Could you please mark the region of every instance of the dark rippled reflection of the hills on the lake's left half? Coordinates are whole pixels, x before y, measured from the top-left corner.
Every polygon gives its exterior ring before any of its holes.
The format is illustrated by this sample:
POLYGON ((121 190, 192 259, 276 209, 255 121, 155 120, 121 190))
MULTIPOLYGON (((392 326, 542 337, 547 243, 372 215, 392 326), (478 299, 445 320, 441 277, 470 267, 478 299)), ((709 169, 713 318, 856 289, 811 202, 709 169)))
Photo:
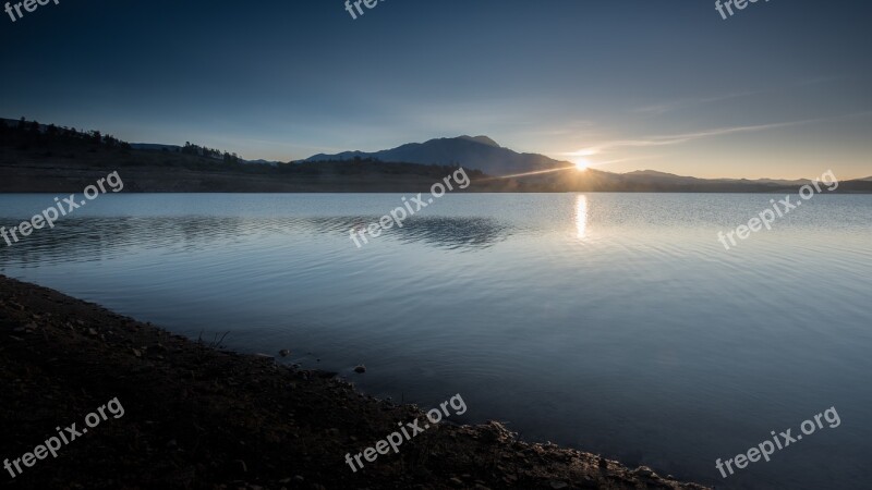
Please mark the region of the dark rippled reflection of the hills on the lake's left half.
MULTIPOLYGON (((0 221, 9 221, 1 219, 0 221)), ((11 247, 0 241, 0 267, 63 262, 70 256, 80 260, 101 260, 141 249, 203 250, 265 236, 330 234, 349 238, 352 228, 377 222, 378 217, 117 217, 82 218, 59 222, 49 233, 33 233, 11 247)), ((489 218, 412 218, 402 228, 392 228, 375 238, 421 243, 448 249, 485 248, 510 235, 509 226, 489 218)))

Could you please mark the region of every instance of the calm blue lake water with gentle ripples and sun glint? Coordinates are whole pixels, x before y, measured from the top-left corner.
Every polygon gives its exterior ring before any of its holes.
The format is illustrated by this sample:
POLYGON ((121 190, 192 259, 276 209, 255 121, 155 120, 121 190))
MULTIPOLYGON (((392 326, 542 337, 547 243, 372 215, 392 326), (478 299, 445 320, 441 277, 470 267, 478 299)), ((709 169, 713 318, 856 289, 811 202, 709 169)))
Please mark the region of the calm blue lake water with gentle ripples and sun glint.
MULTIPOLYGON (((0 196, 0 224, 53 197, 0 196)), ((773 197, 449 195, 358 249, 400 195, 109 195, 0 242, 0 271, 718 488, 869 488, 872 196, 725 250, 773 197), (838 428, 715 469, 831 406, 838 428)))

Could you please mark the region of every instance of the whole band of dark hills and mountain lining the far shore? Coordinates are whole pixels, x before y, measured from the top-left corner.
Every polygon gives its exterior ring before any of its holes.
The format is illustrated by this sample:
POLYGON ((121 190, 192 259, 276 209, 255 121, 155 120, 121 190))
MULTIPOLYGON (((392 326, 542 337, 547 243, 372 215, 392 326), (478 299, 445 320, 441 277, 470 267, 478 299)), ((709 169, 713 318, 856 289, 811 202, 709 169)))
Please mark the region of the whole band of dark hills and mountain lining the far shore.
MULTIPOLYGON (((124 180, 124 192, 416 193, 427 192, 434 182, 455 172, 457 163, 462 161, 468 161, 463 167, 472 181, 464 192, 788 194, 809 182, 708 180, 654 170, 623 174, 594 169, 580 172, 569 162, 518 154, 486 136, 432 139, 377 154, 384 158, 346 152, 342 154, 344 158, 322 156, 328 160, 294 163, 246 161, 234 154, 190 143, 183 147, 131 145, 97 131, 0 120, 0 192, 81 192, 96 179, 118 171, 124 180), (385 161, 403 156, 416 160, 385 161), (449 163, 433 163, 439 160, 449 163), (484 173, 474 164, 493 170, 484 173), (554 171, 513 175, 535 170, 554 171)), ((872 193, 872 177, 843 181, 835 192, 872 193)))

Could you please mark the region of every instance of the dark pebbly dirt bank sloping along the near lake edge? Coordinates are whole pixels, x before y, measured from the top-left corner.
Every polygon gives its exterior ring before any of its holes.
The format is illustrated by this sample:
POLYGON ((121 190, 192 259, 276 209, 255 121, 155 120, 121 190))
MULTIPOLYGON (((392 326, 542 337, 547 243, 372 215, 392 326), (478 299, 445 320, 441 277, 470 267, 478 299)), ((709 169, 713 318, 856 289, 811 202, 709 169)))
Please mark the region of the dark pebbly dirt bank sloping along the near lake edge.
POLYGON ((352 471, 346 454, 426 411, 2 274, 0 372, 0 460, 34 451, 55 427, 81 427, 109 400, 125 411, 14 479, 2 470, 11 488, 706 488, 519 441, 496 421, 434 425, 352 471))

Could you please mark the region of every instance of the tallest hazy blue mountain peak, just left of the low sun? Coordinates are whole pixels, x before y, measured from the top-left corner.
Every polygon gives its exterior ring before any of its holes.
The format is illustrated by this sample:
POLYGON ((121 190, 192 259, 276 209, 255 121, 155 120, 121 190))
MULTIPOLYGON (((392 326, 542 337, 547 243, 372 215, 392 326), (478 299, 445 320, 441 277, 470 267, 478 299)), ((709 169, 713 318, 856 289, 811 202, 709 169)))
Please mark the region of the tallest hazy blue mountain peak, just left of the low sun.
POLYGON ((537 154, 519 154, 499 146, 487 136, 458 136, 455 138, 431 139, 425 143, 410 143, 396 148, 364 152, 343 151, 336 155, 315 155, 303 161, 329 161, 375 159, 390 162, 420 164, 460 164, 468 169, 481 170, 489 175, 509 175, 565 167, 574 167, 568 161, 559 161, 537 154))

